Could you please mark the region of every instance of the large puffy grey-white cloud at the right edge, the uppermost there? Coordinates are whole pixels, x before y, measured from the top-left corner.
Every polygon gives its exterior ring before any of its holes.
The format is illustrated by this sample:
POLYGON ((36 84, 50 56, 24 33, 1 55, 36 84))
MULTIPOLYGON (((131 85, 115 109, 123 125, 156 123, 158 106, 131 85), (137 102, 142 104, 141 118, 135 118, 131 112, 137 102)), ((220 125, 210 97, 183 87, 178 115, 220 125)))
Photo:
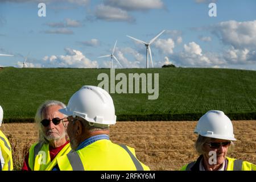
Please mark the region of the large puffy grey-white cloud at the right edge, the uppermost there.
POLYGON ((213 28, 213 33, 224 44, 231 45, 234 48, 256 48, 256 20, 248 22, 229 20, 218 23, 213 28))

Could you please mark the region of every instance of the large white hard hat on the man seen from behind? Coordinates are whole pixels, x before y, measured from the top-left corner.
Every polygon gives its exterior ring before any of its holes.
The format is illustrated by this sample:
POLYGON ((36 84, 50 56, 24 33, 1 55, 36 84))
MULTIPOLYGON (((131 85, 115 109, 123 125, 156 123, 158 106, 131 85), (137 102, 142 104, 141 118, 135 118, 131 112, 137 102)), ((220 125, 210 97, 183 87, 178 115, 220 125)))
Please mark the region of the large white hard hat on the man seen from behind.
POLYGON ((106 90, 84 85, 68 101, 68 106, 59 110, 65 115, 79 116, 88 122, 114 125, 117 117, 113 100, 106 90))

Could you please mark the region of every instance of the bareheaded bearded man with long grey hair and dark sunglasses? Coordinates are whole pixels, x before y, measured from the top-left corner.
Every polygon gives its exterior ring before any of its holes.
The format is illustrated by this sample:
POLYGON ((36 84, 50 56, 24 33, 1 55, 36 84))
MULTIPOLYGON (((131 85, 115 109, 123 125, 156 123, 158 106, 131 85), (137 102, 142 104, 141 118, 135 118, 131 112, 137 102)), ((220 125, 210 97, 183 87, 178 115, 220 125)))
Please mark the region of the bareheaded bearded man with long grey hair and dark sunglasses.
POLYGON ((59 101, 46 101, 38 109, 35 122, 39 127, 39 141, 32 144, 23 163, 23 171, 44 171, 56 165, 56 158, 68 154, 71 147, 59 112, 65 105, 59 101))

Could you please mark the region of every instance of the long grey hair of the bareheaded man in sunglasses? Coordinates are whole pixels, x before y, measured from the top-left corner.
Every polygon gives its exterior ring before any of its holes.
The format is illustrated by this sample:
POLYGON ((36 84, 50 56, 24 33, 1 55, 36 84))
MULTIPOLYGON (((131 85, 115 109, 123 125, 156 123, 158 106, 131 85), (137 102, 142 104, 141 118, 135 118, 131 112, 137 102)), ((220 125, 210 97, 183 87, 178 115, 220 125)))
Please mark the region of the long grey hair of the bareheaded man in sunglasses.
MULTIPOLYGON (((55 106, 55 105, 61 106, 61 108, 66 107, 66 105, 63 104, 63 102, 55 101, 55 100, 48 100, 48 101, 45 101, 42 105, 40 105, 38 107, 38 110, 36 111, 35 123, 39 128, 39 142, 49 143, 49 141, 44 137, 43 126, 40 122, 43 119, 44 110, 47 109, 49 106, 55 106)), ((64 115, 64 116, 67 117, 67 115, 64 115)), ((67 133, 65 135, 67 135, 67 133)))

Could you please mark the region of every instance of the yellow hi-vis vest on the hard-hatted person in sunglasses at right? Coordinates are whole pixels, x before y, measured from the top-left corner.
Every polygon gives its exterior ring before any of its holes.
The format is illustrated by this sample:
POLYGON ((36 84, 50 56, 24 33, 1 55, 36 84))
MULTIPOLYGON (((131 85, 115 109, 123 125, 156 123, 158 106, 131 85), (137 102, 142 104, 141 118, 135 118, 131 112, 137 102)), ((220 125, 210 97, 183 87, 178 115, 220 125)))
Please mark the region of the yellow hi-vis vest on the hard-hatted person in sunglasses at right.
MULTIPOLYGON (((240 159, 228 158, 228 167, 226 171, 256 171, 256 166, 247 161, 243 161, 240 159)), ((195 162, 189 163, 183 166, 180 171, 191 171, 191 167, 195 164, 195 162)))

